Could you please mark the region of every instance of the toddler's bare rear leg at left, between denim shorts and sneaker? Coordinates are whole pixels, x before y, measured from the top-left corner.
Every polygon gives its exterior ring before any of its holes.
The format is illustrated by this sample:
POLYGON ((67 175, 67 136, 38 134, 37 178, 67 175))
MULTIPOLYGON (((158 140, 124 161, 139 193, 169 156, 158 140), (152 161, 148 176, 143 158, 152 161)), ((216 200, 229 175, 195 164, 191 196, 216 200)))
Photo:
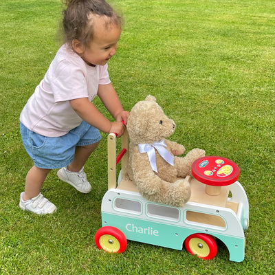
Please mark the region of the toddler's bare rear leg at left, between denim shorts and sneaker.
POLYGON ((36 166, 30 168, 25 181, 25 192, 23 195, 25 201, 39 195, 49 172, 50 169, 38 168, 36 166))

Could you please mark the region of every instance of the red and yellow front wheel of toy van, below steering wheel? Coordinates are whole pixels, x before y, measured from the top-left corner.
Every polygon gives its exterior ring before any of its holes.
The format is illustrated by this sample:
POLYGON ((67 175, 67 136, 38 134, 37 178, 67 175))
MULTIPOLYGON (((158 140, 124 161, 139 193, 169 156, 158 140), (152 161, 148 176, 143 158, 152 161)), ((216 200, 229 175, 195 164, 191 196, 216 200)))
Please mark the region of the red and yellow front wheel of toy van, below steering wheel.
POLYGON ((217 255, 218 248, 214 238, 208 234, 192 234, 184 241, 186 250, 201 259, 210 260, 217 255))

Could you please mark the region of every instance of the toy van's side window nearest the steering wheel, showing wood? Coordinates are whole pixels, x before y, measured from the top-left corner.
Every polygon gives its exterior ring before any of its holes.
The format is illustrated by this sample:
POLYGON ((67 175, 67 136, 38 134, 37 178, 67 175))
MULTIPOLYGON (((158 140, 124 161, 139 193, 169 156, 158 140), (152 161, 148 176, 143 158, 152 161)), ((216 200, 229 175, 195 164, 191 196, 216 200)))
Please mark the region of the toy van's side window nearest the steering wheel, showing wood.
POLYGON ((196 223, 196 225, 203 226, 203 224, 219 226, 222 229, 226 228, 226 223, 221 216, 215 214, 207 214, 196 211, 186 211, 186 220, 196 223))

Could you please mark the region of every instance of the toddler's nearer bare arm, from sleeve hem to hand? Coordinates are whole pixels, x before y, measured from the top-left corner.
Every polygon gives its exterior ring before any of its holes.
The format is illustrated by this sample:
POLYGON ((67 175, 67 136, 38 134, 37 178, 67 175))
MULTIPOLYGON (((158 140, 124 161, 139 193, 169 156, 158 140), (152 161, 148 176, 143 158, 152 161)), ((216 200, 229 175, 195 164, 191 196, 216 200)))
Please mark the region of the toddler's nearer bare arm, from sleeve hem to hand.
POLYGON ((123 135, 124 125, 121 122, 110 122, 96 109, 88 98, 70 100, 70 104, 80 118, 100 131, 104 133, 117 133, 119 137, 123 135))

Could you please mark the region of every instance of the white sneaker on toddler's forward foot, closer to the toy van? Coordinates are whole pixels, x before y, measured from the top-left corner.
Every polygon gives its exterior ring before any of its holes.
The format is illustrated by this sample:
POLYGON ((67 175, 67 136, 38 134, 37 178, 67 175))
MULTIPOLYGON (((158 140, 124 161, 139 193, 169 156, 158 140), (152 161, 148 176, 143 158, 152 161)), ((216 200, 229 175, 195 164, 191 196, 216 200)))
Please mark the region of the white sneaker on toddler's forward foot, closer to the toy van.
POLYGON ((59 179, 71 184, 79 192, 89 193, 91 191, 91 184, 87 181, 87 176, 83 169, 84 167, 79 172, 70 172, 67 168, 63 167, 58 170, 57 175, 59 179))

